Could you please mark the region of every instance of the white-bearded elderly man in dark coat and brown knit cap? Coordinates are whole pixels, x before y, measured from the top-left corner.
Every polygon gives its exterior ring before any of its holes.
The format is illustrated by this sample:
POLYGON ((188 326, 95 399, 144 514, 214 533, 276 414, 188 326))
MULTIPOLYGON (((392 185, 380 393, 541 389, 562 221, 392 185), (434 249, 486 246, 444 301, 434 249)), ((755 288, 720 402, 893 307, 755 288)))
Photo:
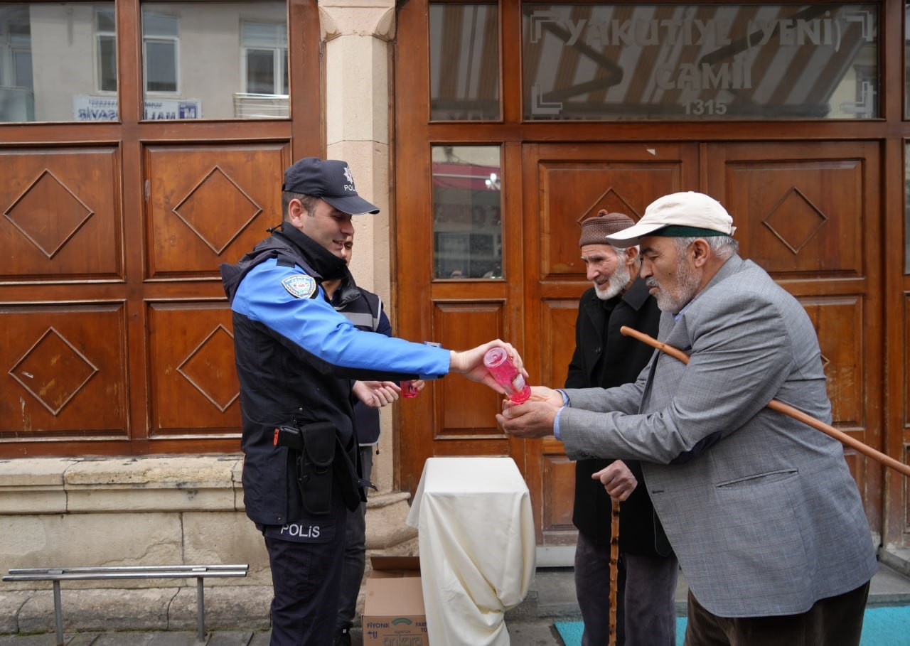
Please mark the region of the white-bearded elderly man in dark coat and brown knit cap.
MULTIPOLYGON (((582 296, 575 323, 575 352, 566 388, 612 388, 634 381, 652 349, 620 334, 622 326, 656 335, 661 310, 638 278, 638 247, 613 247, 606 237, 632 227, 631 217, 601 211, 581 223, 581 260, 593 283, 582 296)), ((584 620, 582 644, 609 641, 611 500, 591 475, 610 469, 620 511, 617 643, 676 643, 674 593, 679 566, 654 516, 637 460, 581 459, 575 464, 578 528, 575 590, 584 620)))

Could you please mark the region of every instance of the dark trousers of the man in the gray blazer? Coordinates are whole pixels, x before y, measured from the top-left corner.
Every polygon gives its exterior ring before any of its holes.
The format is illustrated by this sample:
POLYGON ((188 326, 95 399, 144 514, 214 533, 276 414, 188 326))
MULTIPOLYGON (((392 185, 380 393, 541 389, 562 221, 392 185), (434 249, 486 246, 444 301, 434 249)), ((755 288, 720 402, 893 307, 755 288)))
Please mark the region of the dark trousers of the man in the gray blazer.
POLYGON ((718 617, 689 591, 685 646, 857 646, 863 633, 869 583, 815 601, 800 614, 718 617))

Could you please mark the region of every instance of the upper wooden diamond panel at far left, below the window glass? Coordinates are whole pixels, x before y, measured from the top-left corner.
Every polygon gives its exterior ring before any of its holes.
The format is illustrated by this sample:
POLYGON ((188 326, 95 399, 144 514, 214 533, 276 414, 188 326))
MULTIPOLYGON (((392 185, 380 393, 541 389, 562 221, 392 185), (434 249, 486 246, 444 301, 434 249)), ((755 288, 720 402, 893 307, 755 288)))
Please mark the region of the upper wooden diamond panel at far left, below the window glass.
POLYGON ((116 147, 0 150, 0 282, 123 278, 116 147))

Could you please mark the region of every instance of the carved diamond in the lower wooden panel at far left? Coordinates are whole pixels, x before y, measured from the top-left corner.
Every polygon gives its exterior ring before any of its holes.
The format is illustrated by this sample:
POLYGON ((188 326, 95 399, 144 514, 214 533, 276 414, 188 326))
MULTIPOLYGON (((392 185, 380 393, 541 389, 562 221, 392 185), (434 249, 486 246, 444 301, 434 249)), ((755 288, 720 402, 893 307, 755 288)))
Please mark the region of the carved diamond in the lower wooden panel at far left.
POLYGON ((97 371, 72 343, 48 328, 9 374, 56 417, 97 371))

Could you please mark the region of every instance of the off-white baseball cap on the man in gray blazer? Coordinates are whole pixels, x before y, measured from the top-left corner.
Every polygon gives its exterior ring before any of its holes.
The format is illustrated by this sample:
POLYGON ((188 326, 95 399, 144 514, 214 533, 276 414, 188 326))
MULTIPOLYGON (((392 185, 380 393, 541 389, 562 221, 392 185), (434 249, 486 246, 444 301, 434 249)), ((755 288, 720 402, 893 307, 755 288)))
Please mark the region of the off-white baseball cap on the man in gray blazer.
POLYGON ((655 199, 634 226, 606 237, 616 247, 637 245, 642 236, 733 236, 733 217, 720 202, 703 193, 684 191, 655 199))

